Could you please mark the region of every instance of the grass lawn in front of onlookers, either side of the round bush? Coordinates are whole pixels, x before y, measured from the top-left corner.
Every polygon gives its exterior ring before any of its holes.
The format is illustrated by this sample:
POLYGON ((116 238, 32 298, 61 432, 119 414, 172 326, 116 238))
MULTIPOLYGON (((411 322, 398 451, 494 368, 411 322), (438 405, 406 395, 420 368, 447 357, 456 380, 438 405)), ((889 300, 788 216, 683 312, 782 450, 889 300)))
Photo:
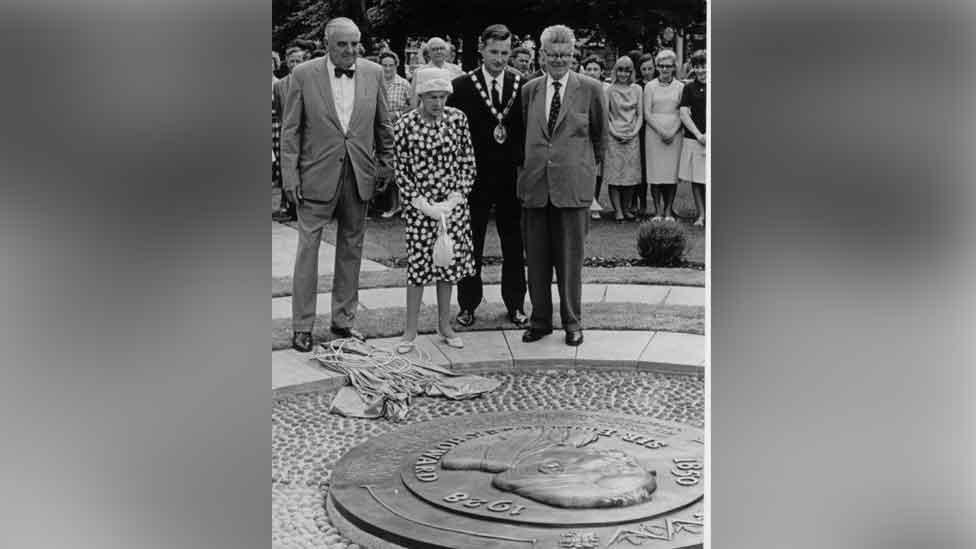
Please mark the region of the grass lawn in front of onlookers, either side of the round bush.
MULTIPOLYGON (((605 208, 604 219, 590 222, 590 231, 586 237, 585 257, 601 257, 610 259, 635 259, 637 253, 638 223, 629 222, 618 225, 612 219, 609 203, 606 202, 606 190, 602 191, 601 205, 605 208)), ((278 191, 272 191, 272 209, 278 205, 278 191)), ((675 211, 679 216, 691 219, 679 219, 679 223, 686 229, 688 246, 685 249, 685 261, 691 265, 703 266, 705 263, 705 231, 701 227, 693 227, 695 206, 691 198, 688 185, 678 186, 678 196, 675 199, 675 211)), ((289 223, 294 226, 294 222, 289 223)), ((323 232, 322 239, 335 244, 335 224, 330 224, 323 232)), ((406 256, 406 243, 403 238, 403 222, 400 218, 392 219, 370 218, 366 224, 366 239, 363 243, 363 257, 388 263, 393 259, 406 256)), ((498 232, 494 228, 494 221, 490 222, 488 235, 485 238, 485 257, 500 258, 501 244, 498 232)))

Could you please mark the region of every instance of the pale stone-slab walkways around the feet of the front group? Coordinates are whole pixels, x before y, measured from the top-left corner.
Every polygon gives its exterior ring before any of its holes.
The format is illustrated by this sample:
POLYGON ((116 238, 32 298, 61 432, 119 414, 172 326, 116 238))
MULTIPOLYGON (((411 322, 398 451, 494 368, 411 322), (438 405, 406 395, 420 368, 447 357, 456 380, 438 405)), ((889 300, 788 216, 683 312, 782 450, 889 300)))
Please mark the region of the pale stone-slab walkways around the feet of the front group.
MULTIPOLYGON (((294 270, 298 233, 295 229, 272 222, 272 277, 291 276, 294 270)), ((332 272, 335 247, 322 243, 319 254, 319 274, 332 272)), ((386 270, 387 267, 363 260, 362 270, 386 270)), ((497 284, 484 289, 485 301, 501 303, 497 284)), ((553 298, 558 292, 553 286, 553 298)), ((318 309, 330 308, 331 294, 318 295, 318 309)), ((403 307, 406 289, 374 288, 360 290, 363 309, 403 307)), ((650 286, 631 284, 584 284, 585 303, 647 303, 656 305, 706 304, 705 288, 687 286, 650 286)), ((434 288, 425 290, 424 302, 436 303, 434 288)), ((556 306, 558 307, 558 305, 556 306)), ((291 317, 291 297, 271 300, 271 318, 291 317)), ((506 369, 612 367, 636 368, 672 373, 702 374, 705 371, 705 337, 660 331, 586 330, 579 347, 563 342, 559 330, 540 341, 522 343, 522 330, 491 330, 464 332, 464 349, 454 349, 438 341, 435 335, 417 337, 418 347, 429 353, 432 362, 454 370, 480 372, 506 369)), ((371 339, 369 343, 392 350, 399 337, 371 339)), ((330 388, 346 383, 344 376, 333 373, 315 361, 311 353, 292 349, 271 353, 271 388, 274 393, 292 392, 307 388, 330 388)))

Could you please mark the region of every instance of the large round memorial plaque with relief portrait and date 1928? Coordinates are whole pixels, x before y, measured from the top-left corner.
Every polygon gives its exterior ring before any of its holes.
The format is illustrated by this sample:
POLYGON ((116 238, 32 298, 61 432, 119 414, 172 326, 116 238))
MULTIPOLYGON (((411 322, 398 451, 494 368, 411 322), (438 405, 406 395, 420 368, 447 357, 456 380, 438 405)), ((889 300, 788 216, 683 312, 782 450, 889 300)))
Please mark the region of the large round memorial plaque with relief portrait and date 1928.
POLYGON ((372 439, 328 510, 365 547, 701 547, 704 433, 637 416, 510 412, 372 439))

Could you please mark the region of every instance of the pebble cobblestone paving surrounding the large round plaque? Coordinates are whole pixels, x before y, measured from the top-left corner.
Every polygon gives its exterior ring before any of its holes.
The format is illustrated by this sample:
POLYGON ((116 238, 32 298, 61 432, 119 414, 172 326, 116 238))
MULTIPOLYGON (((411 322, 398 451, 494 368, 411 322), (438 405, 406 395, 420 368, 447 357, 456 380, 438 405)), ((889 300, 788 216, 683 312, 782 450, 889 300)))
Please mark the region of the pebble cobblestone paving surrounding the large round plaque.
MULTIPOLYGON (((589 410, 627 413, 704 427, 704 381, 634 371, 549 370, 486 374, 501 386, 481 398, 418 398, 407 423, 520 410, 589 410)), ((325 511, 332 467, 350 448, 393 431, 384 420, 328 413, 333 392, 274 400, 272 425, 271 539, 284 548, 359 549, 342 537, 325 511)))

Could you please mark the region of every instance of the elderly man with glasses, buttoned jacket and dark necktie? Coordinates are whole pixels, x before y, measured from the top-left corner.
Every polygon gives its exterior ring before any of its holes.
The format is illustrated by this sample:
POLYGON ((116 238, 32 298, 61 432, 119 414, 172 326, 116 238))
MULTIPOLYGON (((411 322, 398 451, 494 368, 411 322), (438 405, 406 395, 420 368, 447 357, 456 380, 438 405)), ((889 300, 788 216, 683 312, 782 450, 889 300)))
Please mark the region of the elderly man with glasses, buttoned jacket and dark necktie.
POLYGON ((546 74, 522 88, 525 146, 517 191, 532 300, 522 341, 552 333, 555 268, 566 344, 576 346, 583 342, 583 242, 606 136, 606 108, 600 82, 569 70, 573 31, 547 27, 540 42, 546 74))

